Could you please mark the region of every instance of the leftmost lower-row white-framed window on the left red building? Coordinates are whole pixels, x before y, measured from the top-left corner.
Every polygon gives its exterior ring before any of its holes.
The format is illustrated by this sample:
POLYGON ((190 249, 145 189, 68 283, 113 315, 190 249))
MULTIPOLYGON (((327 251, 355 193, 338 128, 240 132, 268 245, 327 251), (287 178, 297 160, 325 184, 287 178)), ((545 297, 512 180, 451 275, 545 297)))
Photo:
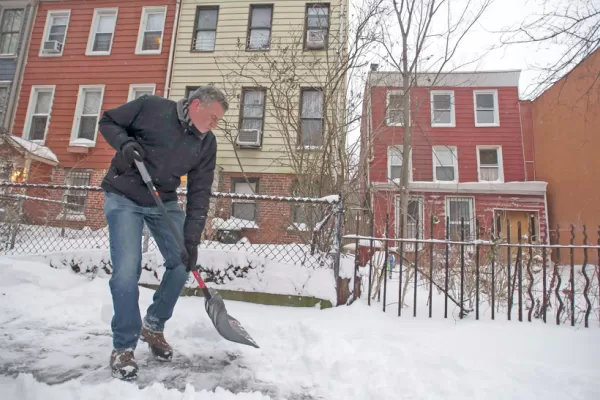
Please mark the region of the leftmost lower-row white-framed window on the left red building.
POLYGON ((24 138, 36 142, 44 142, 46 139, 54 90, 54 86, 33 86, 31 88, 23 132, 24 138))

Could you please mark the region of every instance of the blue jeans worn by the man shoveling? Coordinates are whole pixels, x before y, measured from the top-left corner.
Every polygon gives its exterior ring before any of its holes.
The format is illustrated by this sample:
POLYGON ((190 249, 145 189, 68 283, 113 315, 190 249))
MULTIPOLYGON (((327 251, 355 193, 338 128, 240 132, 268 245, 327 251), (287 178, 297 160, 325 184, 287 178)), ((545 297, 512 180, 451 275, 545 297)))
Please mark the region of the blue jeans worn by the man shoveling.
MULTIPOLYGON (((160 209, 141 207, 124 196, 105 192, 104 215, 108 222, 110 255, 113 265, 109 281, 114 316, 111 322, 113 346, 116 350, 137 346, 142 323, 153 331, 162 332, 173 315, 181 290, 189 273, 181 262, 181 251, 160 209), (142 273, 142 230, 144 222, 165 259, 165 273, 153 302, 142 322, 139 309, 138 281, 142 273)), ((185 213, 176 201, 165 208, 173 225, 183 235, 185 213)))

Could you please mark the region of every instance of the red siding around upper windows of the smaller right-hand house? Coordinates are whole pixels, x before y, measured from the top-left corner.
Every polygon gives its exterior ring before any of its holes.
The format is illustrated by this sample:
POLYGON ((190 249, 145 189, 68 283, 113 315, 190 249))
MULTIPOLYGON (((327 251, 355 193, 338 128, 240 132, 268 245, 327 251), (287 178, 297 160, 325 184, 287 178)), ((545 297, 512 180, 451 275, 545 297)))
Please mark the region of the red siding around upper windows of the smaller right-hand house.
MULTIPOLYGON (((376 87, 372 96, 373 156, 370 163, 370 178, 373 182, 387 181, 387 148, 400 145, 403 140, 402 127, 385 124, 386 93, 394 87, 376 87)), ((436 90, 435 88, 433 90, 436 90)), ((456 127, 432 128, 429 90, 419 88, 411 95, 411 118, 413 131, 413 180, 433 180, 432 146, 448 145, 458 149, 458 176, 460 182, 477 182, 478 145, 502 146, 505 182, 525 180, 521 119, 518 106, 517 87, 501 88, 439 88, 454 90, 456 127), (476 127, 473 91, 497 89, 499 102, 499 127, 476 127)))

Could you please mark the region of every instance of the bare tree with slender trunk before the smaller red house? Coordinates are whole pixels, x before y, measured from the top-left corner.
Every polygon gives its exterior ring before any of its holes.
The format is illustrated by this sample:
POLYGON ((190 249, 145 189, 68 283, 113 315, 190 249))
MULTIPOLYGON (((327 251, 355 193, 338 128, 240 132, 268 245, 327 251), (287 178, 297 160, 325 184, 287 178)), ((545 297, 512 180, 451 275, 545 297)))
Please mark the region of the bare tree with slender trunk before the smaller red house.
MULTIPOLYGON (((387 3, 389 7, 386 18, 378 24, 376 37, 380 39, 381 62, 384 67, 399 72, 401 76, 400 81, 391 78, 385 82, 385 86, 402 88, 402 104, 395 110, 400 114, 397 117, 403 130, 399 183, 400 237, 404 237, 408 222, 412 138, 414 130, 419 129, 415 121, 420 104, 413 104, 411 108, 411 101, 418 100, 413 92, 419 87, 434 87, 445 73, 481 59, 481 56, 476 56, 466 61, 453 60, 465 38, 492 2, 493 0, 390 0, 387 3)), ((366 145, 371 146, 370 143, 366 145)), ((388 204, 388 207, 392 205, 388 204)))

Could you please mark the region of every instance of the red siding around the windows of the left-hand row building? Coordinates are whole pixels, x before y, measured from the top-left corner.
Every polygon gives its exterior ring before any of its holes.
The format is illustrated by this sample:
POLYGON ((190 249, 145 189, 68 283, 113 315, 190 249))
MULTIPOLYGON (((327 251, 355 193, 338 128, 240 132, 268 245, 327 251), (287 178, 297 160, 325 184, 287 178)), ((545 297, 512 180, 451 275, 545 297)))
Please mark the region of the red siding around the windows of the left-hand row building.
POLYGON ((40 3, 31 38, 27 67, 21 87, 14 134, 23 133, 32 85, 56 85, 46 145, 57 155, 61 167, 106 168, 114 150, 97 133, 96 146, 87 154, 67 151, 79 85, 104 84, 101 113, 127 101, 130 84, 156 84, 162 96, 167 73, 175 0, 53 1, 40 3), (138 30, 145 6, 167 6, 162 52, 136 55, 138 30), (110 56, 86 56, 94 8, 118 7, 117 25, 110 56), (49 10, 71 10, 62 57, 39 57, 49 10), (43 65, 42 65, 43 62, 43 65))

